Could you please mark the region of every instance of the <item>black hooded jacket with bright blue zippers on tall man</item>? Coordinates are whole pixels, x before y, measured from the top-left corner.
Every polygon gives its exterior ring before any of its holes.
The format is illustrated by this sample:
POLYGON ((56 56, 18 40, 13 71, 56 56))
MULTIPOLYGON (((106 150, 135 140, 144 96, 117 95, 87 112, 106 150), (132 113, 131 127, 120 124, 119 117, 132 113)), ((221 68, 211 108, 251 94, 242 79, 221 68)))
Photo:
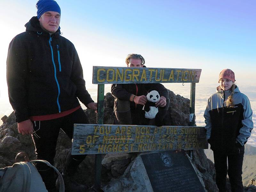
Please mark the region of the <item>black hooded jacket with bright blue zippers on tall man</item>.
POLYGON ((83 69, 74 45, 60 36, 50 36, 32 17, 26 31, 15 36, 7 56, 9 100, 16 121, 49 115, 93 102, 86 91, 83 69), (77 99, 78 98, 78 99, 77 99))

